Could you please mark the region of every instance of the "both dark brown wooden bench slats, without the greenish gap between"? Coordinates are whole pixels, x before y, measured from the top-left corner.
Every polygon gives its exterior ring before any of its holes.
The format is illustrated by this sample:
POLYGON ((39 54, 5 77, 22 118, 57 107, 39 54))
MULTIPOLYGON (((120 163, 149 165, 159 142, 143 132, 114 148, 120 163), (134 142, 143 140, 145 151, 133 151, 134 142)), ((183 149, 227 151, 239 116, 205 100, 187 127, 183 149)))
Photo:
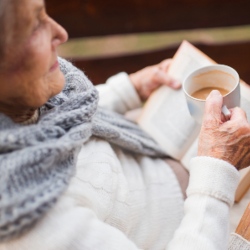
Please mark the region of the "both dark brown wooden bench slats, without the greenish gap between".
MULTIPOLYGON (((47 0, 46 5, 70 38, 250 24, 248 0, 47 0)), ((70 59, 98 84, 117 72, 133 73, 172 57, 179 44, 115 56, 70 59)), ((216 62, 234 67, 250 83, 250 40, 229 39, 221 43, 198 38, 193 44, 216 62)))

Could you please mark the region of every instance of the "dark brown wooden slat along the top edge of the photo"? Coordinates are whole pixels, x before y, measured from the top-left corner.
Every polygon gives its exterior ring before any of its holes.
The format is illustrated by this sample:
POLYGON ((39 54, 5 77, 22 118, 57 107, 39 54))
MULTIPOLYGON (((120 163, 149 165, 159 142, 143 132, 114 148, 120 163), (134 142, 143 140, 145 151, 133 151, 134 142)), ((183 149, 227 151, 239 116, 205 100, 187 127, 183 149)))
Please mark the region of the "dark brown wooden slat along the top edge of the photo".
POLYGON ((46 0, 69 36, 250 24, 249 0, 46 0))

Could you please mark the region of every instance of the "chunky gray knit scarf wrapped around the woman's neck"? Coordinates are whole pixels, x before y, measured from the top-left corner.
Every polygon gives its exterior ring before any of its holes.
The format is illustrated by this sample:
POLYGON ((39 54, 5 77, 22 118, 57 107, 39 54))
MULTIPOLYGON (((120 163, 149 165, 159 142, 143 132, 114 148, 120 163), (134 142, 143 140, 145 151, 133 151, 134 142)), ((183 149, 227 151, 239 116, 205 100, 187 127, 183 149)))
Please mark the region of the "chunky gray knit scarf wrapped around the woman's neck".
POLYGON ((53 206, 91 136, 131 153, 165 156, 137 125, 97 108, 98 92, 83 72, 59 62, 65 88, 41 107, 37 124, 16 124, 0 114, 0 240, 24 232, 53 206))

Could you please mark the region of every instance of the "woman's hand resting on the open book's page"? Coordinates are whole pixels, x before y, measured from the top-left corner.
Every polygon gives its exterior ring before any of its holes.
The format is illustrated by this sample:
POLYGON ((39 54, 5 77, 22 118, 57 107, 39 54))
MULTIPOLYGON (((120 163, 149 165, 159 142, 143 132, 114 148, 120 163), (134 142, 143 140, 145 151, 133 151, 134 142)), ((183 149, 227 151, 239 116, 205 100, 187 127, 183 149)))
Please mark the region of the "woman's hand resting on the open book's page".
POLYGON ((174 89, 181 87, 181 83, 168 75, 171 59, 159 64, 148 66, 130 75, 130 80, 137 90, 141 100, 146 100, 160 85, 170 86, 174 89))

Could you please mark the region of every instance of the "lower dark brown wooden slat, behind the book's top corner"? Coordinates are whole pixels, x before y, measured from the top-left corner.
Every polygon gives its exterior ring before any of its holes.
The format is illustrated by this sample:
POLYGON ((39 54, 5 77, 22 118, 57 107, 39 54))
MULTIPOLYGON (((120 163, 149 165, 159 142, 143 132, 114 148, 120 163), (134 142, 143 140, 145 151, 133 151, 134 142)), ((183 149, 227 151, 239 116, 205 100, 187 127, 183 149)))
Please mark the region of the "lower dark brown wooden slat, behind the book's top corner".
MULTIPOLYGON (((227 64, 235 68, 241 79, 250 83, 250 41, 229 44, 194 44, 217 63, 227 64)), ((94 84, 103 83, 108 77, 118 72, 133 73, 148 65, 159 63, 174 55, 176 46, 147 51, 132 55, 101 57, 101 58, 75 58, 74 64, 90 77, 94 84)), ((70 58, 69 58, 70 59, 70 58)))

